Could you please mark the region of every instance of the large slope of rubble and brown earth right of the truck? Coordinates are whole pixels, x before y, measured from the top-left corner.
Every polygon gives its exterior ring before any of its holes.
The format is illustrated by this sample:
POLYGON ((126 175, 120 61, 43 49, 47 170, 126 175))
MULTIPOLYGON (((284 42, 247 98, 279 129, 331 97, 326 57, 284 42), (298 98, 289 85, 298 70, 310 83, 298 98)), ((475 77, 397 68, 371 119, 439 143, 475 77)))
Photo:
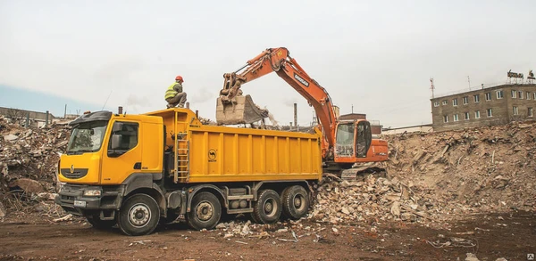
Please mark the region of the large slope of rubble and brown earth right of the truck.
POLYGON ((310 218, 440 224, 474 213, 534 211, 535 128, 535 122, 513 122, 383 137, 389 142, 385 171, 354 181, 324 178, 310 218))

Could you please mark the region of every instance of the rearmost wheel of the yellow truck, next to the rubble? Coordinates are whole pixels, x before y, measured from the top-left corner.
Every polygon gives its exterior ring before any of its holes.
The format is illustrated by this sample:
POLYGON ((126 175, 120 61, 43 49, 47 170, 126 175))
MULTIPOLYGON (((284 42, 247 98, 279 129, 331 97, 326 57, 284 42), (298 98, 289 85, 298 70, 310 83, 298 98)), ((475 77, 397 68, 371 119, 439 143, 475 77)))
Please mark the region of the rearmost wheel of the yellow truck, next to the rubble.
POLYGON ((309 194, 302 186, 291 186, 282 193, 283 214, 291 219, 306 216, 309 209, 309 194))

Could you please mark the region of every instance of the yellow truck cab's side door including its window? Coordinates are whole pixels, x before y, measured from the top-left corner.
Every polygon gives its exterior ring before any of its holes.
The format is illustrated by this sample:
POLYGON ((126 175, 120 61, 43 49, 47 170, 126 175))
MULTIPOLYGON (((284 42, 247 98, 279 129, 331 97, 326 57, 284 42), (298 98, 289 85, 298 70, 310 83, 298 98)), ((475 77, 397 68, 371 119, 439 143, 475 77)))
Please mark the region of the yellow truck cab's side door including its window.
POLYGON ((140 124, 132 121, 113 122, 107 150, 103 150, 101 184, 121 184, 130 174, 141 172, 141 150, 139 142, 140 124), (115 140, 116 148, 112 141, 115 140))

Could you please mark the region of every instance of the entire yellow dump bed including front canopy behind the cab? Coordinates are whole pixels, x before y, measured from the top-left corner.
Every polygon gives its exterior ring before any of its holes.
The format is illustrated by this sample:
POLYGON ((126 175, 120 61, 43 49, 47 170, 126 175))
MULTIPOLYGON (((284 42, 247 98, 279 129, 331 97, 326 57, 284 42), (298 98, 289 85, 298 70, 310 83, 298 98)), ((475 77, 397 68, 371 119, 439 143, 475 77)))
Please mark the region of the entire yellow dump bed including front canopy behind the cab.
POLYGON ((176 183, 317 180, 322 134, 202 125, 188 109, 159 110, 176 183))

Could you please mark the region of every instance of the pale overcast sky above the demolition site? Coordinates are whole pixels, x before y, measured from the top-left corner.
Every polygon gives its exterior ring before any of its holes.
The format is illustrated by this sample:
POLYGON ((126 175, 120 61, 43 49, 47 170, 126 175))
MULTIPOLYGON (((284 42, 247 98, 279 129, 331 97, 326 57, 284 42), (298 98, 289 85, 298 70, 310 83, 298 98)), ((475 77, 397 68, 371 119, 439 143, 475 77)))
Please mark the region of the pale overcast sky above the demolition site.
MULTIPOLYGON (((290 55, 340 113, 384 127, 431 123, 436 97, 536 69, 536 1, 0 0, 0 106, 162 110, 184 77, 215 119, 222 75, 266 48, 290 55), (469 78, 468 78, 469 77, 469 78)), ((275 73, 242 86, 280 123, 309 126, 306 99, 275 73)))

